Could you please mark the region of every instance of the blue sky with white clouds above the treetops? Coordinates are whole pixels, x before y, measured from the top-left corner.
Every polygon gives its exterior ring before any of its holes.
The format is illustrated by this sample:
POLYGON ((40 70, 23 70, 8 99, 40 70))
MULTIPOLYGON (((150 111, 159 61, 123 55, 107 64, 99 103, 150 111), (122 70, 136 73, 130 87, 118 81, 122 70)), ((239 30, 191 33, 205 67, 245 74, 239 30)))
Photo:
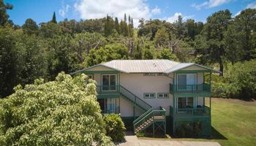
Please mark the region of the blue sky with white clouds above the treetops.
POLYGON ((233 16, 246 8, 256 9, 255 0, 4 0, 14 9, 8 10, 10 19, 22 25, 27 18, 37 23, 48 22, 56 12, 57 20, 64 18, 90 19, 105 15, 123 18, 131 15, 138 25, 140 18, 159 18, 174 22, 178 15, 184 19, 206 21, 213 12, 230 9, 233 16))

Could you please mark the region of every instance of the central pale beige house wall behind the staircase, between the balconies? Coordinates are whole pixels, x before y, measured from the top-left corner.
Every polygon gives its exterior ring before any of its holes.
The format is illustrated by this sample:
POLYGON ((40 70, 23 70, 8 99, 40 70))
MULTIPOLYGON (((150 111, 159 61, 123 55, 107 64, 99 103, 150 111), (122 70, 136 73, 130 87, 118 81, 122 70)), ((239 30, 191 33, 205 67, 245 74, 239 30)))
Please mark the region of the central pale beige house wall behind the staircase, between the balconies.
MULTIPOLYGON (((173 82, 172 78, 173 74, 170 74, 169 77, 165 76, 144 76, 143 74, 120 74, 120 85, 122 85, 124 88, 127 88, 127 90, 134 93, 136 96, 138 96, 143 101, 146 101, 146 103, 150 104, 154 109, 159 109, 159 106, 162 106, 166 110, 166 115, 169 115, 169 106, 173 105, 173 96, 169 92, 170 88, 170 82, 173 82), (154 99, 144 99, 143 93, 155 93, 154 99), (168 99, 158 99, 157 93, 169 93, 168 99)), ((125 100, 125 99, 124 99, 125 100)), ((122 103, 123 105, 129 104, 129 103, 122 103)), ((133 107, 127 108, 125 110, 130 110, 132 112, 124 112, 127 116, 133 116, 133 107)), ((122 105, 121 105, 122 108, 122 105)), ((139 111, 135 111, 136 113, 139 113, 139 111)), ((123 113, 121 112, 121 115, 123 113)), ((137 115, 137 114, 136 114, 137 115)))

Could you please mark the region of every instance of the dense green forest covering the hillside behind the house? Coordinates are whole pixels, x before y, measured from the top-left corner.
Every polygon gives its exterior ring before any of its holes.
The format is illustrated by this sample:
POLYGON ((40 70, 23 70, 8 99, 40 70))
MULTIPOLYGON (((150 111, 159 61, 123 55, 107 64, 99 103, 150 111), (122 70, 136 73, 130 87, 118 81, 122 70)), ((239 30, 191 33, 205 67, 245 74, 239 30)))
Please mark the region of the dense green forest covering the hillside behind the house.
MULTIPOLYGON (((219 69, 214 96, 252 98, 256 95, 256 9, 232 17, 228 9, 214 12, 206 23, 178 16, 175 23, 139 20, 52 20, 37 24, 28 18, 12 23, 0 0, 0 97, 41 77, 53 80, 113 59, 169 59, 219 69), (236 72, 236 74, 234 73, 236 72), (243 75, 241 75, 243 74, 243 75)), ((217 77, 214 77, 217 78, 217 77)))

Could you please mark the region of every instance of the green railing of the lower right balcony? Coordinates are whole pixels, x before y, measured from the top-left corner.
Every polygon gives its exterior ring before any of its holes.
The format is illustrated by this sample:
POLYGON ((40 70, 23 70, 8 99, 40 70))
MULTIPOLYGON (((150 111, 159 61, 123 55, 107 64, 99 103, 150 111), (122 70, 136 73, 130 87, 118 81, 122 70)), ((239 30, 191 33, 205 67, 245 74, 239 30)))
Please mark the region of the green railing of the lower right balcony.
POLYGON ((170 115, 174 116, 207 116, 211 115, 210 107, 174 109, 170 106, 170 115))

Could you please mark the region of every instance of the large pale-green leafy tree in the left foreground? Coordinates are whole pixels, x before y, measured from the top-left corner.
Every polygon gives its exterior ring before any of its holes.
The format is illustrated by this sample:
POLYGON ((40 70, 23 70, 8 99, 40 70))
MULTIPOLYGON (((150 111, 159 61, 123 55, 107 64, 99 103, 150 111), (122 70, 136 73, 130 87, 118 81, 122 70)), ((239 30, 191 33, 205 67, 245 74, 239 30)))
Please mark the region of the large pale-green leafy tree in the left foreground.
POLYGON ((105 135, 94 83, 60 73, 0 99, 0 145, 113 145, 105 135))

